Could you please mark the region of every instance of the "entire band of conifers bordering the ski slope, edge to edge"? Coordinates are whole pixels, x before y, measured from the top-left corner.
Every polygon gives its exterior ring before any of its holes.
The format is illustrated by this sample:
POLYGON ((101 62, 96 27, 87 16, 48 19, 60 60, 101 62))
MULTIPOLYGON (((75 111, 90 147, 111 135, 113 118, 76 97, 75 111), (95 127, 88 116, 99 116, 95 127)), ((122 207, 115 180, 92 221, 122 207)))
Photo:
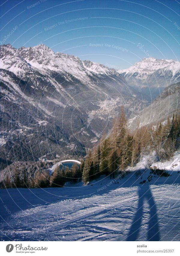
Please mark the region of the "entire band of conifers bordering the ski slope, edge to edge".
POLYGON ((179 114, 160 122, 156 127, 141 127, 130 132, 122 108, 119 121, 110 135, 103 135, 98 146, 89 151, 80 166, 74 164, 70 169, 58 166, 49 175, 46 163, 15 162, 3 170, 6 175, 1 181, 1 188, 63 187, 66 182, 74 184, 81 180, 88 184, 101 175, 114 178, 117 172, 124 173, 128 166, 133 167, 139 162, 144 154, 156 153, 160 160, 169 160, 179 148, 179 114))

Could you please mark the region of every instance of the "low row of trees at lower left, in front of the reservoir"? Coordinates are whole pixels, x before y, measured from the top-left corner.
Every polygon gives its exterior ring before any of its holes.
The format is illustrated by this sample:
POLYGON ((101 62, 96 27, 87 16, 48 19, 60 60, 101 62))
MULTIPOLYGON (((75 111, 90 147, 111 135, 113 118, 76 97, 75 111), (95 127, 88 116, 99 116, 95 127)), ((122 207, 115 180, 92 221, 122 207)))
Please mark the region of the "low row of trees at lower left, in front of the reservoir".
POLYGON ((63 187, 65 182, 76 183, 82 179, 83 166, 76 163, 69 169, 57 166, 49 175, 50 166, 43 162, 15 162, 1 172, 1 188, 63 187))

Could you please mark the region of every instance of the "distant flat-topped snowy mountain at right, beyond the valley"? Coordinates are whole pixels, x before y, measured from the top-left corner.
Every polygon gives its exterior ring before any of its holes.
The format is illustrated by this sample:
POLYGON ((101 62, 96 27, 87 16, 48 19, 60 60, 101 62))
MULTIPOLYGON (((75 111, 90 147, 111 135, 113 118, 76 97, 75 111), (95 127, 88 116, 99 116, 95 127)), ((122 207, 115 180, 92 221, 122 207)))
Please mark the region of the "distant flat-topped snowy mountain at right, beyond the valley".
POLYGON ((143 58, 130 68, 118 72, 133 88, 155 99, 165 87, 180 81, 180 62, 143 58))

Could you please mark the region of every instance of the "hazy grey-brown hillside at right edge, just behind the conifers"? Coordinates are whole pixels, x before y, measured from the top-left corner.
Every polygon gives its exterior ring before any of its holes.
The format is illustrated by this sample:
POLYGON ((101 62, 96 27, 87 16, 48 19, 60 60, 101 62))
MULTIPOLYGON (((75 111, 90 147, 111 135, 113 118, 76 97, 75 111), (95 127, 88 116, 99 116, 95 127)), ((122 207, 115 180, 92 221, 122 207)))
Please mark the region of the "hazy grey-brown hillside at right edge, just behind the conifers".
POLYGON ((173 113, 180 112, 180 82, 166 87, 153 103, 130 119, 131 129, 147 125, 157 125, 167 120, 173 113))

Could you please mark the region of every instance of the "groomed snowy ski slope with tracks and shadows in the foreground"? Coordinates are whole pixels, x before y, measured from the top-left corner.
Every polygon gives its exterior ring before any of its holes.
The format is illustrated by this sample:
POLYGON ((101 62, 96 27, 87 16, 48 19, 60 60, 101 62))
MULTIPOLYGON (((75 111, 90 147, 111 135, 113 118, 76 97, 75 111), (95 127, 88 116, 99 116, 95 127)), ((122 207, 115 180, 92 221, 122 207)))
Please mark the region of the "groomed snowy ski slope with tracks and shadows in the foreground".
POLYGON ((1 240, 179 241, 180 173, 140 184, 146 160, 88 186, 1 189, 1 240))

